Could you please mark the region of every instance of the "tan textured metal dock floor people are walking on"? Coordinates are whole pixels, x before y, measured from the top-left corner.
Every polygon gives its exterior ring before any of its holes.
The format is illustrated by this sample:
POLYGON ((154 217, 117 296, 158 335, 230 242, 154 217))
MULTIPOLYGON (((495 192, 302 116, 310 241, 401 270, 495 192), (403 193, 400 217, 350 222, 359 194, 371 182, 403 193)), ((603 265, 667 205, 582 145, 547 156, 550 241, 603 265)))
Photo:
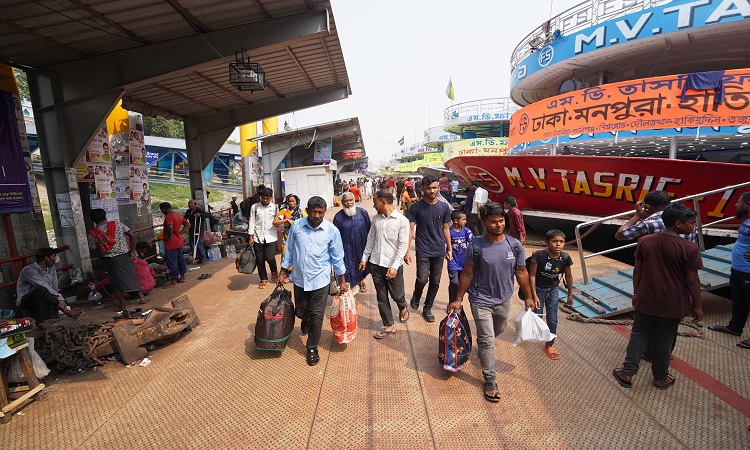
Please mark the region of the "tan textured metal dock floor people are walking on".
MULTIPOLYGON (((618 267, 591 261, 594 275, 618 267)), ((407 292, 414 274, 407 267, 407 292)), ((200 325, 152 351, 148 367, 108 362, 45 380, 48 397, 0 425, 0 448, 750 448, 750 352, 737 338, 679 338, 676 385, 653 388, 644 362, 628 390, 610 373, 624 358, 627 327, 561 314, 555 362, 540 345, 512 347, 511 324, 495 347, 503 400, 490 404, 476 352, 457 374, 438 365, 437 323, 412 314, 393 337, 372 338, 381 323, 371 283, 358 296, 356 340, 336 343, 326 321, 319 365, 305 364, 298 327, 283 354, 256 351, 257 308, 270 293, 257 280, 222 260, 155 292, 154 305, 186 293, 200 325)), ((443 280, 436 309, 447 304, 443 280)), ((729 302, 703 299, 706 324, 725 323, 729 302)), ((513 315, 520 306, 513 299, 513 315)), ((113 311, 89 320, 94 313, 113 311)))

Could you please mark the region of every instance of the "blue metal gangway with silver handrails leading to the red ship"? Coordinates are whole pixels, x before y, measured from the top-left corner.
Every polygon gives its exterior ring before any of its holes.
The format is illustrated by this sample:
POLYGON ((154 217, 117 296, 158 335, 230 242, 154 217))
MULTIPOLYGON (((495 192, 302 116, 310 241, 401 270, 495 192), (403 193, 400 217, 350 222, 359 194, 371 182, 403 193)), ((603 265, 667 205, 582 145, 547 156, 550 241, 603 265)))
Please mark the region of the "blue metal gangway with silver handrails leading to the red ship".
MULTIPOLYGON (((698 244, 703 257, 704 268, 698 271, 701 282, 701 291, 718 289, 729 284, 729 271, 732 265, 732 245, 719 245, 710 250, 706 250, 703 239, 704 230, 714 228, 719 224, 733 220, 734 217, 726 217, 707 224, 703 224, 700 213, 700 201, 710 195, 723 195, 729 193, 726 198, 731 198, 732 194, 738 189, 750 186, 750 182, 726 186, 712 191, 701 192, 695 195, 682 197, 673 202, 692 202, 693 209, 698 213, 698 244)), ((597 256, 602 256, 635 247, 637 242, 631 242, 617 247, 609 248, 596 253, 584 253, 583 238, 588 233, 583 233, 583 229, 593 231, 593 228, 601 223, 609 222, 613 219, 630 217, 635 211, 626 211, 612 216, 602 217, 600 219, 583 222, 576 226, 576 245, 578 246, 578 255, 581 261, 581 271, 583 274, 582 283, 573 284, 573 309, 587 318, 606 318, 624 314, 633 310, 633 269, 618 270, 603 276, 589 278, 589 271, 586 260, 597 256)), ((565 298, 568 291, 560 287, 561 298, 565 298)))

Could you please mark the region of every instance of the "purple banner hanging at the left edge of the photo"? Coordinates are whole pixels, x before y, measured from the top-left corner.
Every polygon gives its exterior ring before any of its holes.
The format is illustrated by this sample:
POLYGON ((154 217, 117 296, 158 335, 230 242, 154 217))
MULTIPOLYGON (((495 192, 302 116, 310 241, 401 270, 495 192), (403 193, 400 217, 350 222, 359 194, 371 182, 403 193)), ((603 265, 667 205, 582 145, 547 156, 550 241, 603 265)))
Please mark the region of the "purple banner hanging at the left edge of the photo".
POLYGON ((10 92, 0 91, 0 213, 34 211, 10 92))

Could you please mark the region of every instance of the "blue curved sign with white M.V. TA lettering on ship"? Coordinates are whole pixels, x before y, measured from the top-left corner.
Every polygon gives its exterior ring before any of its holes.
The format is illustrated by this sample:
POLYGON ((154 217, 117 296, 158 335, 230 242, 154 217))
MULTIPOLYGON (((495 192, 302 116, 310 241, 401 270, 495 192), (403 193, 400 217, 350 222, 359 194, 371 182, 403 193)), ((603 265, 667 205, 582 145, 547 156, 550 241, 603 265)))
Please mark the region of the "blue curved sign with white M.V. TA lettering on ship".
MULTIPOLYGON (((603 2, 599 2, 598 6, 606 9, 603 2)), ((545 67, 584 53, 676 31, 750 19, 750 4, 747 1, 675 0, 666 5, 602 22, 570 35, 566 35, 564 29, 567 19, 557 21, 563 28, 559 30, 559 38, 553 38, 513 69, 511 88, 545 67)))

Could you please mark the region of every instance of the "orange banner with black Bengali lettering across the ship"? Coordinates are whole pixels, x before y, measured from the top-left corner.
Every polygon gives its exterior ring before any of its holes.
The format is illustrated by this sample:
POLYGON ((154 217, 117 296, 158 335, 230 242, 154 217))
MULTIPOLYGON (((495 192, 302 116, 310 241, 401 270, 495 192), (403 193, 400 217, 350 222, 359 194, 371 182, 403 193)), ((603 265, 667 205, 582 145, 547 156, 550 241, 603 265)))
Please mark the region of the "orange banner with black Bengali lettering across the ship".
POLYGON ((576 134, 750 125, 750 69, 726 71, 723 96, 714 89, 683 94, 687 77, 605 84, 539 101, 513 114, 510 145, 576 134))

